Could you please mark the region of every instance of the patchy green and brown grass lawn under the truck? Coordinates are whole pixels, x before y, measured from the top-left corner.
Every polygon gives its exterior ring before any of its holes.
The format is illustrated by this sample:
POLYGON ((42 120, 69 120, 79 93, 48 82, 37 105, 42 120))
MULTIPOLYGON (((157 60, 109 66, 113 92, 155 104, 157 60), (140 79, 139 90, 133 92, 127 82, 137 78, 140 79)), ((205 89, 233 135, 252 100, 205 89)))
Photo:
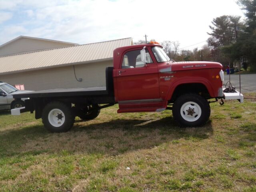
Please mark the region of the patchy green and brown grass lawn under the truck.
POLYGON ((0 191, 256 192, 255 95, 211 103, 200 128, 113 106, 50 133, 34 114, 0 112, 0 191))

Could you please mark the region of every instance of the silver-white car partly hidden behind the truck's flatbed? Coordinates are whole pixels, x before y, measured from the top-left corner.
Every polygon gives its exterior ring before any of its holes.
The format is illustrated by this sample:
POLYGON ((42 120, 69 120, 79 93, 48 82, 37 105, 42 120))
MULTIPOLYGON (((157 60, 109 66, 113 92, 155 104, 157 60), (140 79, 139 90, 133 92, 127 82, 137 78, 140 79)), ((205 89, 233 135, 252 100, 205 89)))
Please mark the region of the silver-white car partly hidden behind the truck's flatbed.
POLYGON ((24 107, 24 100, 29 98, 22 98, 21 100, 14 100, 13 94, 31 92, 28 90, 18 90, 8 83, 0 82, 0 109, 13 109, 24 107))

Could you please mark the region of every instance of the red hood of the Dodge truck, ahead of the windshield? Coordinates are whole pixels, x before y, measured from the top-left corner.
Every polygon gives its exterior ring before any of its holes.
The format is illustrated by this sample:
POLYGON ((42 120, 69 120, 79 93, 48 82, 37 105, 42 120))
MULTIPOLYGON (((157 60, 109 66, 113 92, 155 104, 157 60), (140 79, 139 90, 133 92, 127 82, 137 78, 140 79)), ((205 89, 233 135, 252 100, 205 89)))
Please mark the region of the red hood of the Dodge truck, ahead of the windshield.
POLYGON ((217 62, 206 62, 206 61, 174 62, 172 63, 171 68, 172 68, 172 71, 196 70, 196 69, 206 69, 206 68, 222 69, 222 64, 217 62))

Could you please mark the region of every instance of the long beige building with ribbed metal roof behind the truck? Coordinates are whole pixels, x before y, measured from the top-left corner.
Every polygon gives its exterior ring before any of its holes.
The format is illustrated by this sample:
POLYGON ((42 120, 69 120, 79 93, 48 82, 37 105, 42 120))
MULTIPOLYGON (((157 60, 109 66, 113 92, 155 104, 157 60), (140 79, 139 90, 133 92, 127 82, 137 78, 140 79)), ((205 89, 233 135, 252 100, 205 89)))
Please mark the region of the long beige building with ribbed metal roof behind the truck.
MULTIPOLYGON (((14 40, 0 48, 9 49, 12 43, 19 45, 21 42, 17 41, 25 39, 14 40)), ((38 38, 26 40, 37 41, 38 38)), ((48 46, 56 42, 49 40, 48 46)), ((62 47, 44 48, 46 50, 40 50, 43 46, 36 46, 37 43, 27 43, 30 48, 17 48, 12 54, 9 51, 7 56, 0 56, 0 81, 24 84, 26 90, 105 86, 105 68, 113 66, 113 50, 133 44, 132 38, 84 45, 62 43, 59 44, 62 47)), ((7 51, 0 49, 1 53, 7 51)))

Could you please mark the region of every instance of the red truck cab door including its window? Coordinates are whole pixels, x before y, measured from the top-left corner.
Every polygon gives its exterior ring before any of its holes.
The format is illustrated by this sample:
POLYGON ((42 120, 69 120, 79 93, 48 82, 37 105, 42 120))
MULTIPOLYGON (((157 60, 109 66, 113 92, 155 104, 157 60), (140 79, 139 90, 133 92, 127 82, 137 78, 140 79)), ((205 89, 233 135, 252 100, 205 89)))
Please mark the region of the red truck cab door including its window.
POLYGON ((148 51, 145 65, 141 61, 140 49, 124 54, 122 66, 116 70, 118 101, 140 102, 160 99, 158 66, 152 61, 148 51))

